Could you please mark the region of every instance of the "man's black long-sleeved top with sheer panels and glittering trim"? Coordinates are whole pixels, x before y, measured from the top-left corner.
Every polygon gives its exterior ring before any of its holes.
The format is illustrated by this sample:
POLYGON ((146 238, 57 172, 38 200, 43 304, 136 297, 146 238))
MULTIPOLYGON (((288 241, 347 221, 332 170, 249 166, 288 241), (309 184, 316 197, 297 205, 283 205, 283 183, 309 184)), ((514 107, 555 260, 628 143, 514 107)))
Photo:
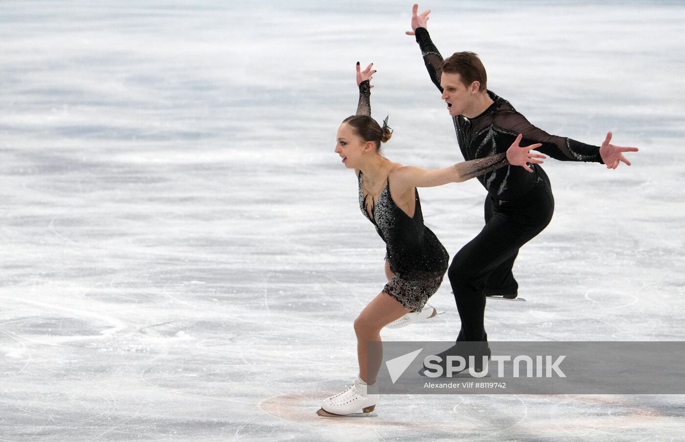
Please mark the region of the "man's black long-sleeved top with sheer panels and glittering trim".
MULTIPOLYGON (((423 61, 431 80, 440 92, 440 66, 443 56, 433 44, 427 29, 416 28, 416 42, 421 47, 423 61)), ((457 133, 459 147, 464 159, 476 159, 506 153, 516 136, 521 133, 521 146, 541 143, 535 150, 561 161, 595 161, 602 163, 599 156, 599 146, 584 144, 571 138, 549 135, 549 133, 532 125, 525 116, 505 99, 488 90, 490 99, 495 103, 485 112, 475 118, 463 115, 452 117, 457 133)), ((513 200, 530 192, 538 181, 542 181, 538 173, 539 164, 531 164, 533 173, 522 167, 510 166, 487 172, 478 177, 488 194, 500 200, 513 200)))

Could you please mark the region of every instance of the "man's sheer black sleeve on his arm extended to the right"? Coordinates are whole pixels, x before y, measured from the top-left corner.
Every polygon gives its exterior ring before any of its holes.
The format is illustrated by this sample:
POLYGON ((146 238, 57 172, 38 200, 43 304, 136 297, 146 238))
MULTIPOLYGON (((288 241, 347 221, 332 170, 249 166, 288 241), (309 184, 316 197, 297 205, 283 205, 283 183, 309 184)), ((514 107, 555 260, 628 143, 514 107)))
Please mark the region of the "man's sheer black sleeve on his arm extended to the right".
POLYGON ((599 155, 599 146, 585 144, 571 140, 571 138, 549 135, 549 133, 530 124, 525 116, 514 110, 497 112, 495 125, 514 133, 521 133, 523 135, 521 145, 523 146, 525 143, 542 143, 543 145, 535 150, 554 159, 560 161, 594 161, 603 164, 599 155))

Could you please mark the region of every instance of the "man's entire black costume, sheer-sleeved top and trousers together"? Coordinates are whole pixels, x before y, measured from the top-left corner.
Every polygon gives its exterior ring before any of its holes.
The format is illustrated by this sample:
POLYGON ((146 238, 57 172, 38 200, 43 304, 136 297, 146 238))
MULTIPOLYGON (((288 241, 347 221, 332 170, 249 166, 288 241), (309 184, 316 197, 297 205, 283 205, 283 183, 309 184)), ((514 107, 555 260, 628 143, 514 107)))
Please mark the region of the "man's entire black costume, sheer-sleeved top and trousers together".
MULTIPOLYGON (((440 92, 443 57, 428 31, 419 27, 416 42, 431 80, 440 92)), ((494 103, 475 118, 453 117, 464 159, 501 153, 523 134, 521 145, 542 143, 536 151, 562 161, 597 161, 598 146, 549 135, 534 127, 506 100, 488 90, 494 103)), ((554 199, 547 174, 538 164, 533 173, 508 166, 479 177, 488 191, 485 200, 486 225, 479 235, 454 257, 448 276, 454 292, 462 328, 458 341, 486 341, 483 326, 486 294, 516 294, 518 283, 512 266, 519 248, 549 224, 554 199)))

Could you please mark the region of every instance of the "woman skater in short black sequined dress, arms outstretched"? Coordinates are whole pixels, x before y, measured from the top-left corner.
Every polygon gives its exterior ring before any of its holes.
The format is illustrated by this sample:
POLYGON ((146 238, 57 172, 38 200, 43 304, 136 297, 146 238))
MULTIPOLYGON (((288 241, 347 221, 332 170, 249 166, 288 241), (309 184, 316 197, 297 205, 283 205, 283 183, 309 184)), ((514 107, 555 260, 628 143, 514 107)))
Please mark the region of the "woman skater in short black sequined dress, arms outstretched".
POLYGON ((506 153, 442 169, 426 170, 390 161, 379 152, 380 144, 392 134, 387 118, 383 127, 371 118, 370 80, 375 72, 371 64, 360 72, 357 63, 357 114, 345 118, 338 128, 335 153, 343 159, 345 167, 355 170, 360 209, 386 243, 385 271, 389 281, 354 322, 359 375, 343 393, 323 401, 317 411, 320 416, 373 411, 378 400, 375 378, 382 355, 373 354, 373 360, 369 360, 367 343, 381 341, 380 330, 390 322, 411 311, 421 311, 443 281, 449 255, 434 233, 423 225, 416 187, 460 183, 507 164, 530 170, 527 163, 541 163, 540 158, 545 158, 531 152, 540 144, 520 147, 519 137, 506 153))

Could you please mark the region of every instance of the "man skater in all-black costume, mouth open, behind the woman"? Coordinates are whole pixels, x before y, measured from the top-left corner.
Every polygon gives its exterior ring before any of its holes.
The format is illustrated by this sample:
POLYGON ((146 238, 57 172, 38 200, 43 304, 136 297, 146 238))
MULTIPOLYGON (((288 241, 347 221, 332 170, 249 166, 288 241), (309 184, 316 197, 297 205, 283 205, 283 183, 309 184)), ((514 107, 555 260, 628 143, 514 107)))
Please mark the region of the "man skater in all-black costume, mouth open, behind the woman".
MULTIPOLYGON (((522 133, 523 144, 541 143, 538 152, 561 161, 594 161, 610 169, 623 161, 630 166, 623 153, 638 149, 610 144, 611 132, 601 146, 592 146, 534 127, 508 101, 487 89, 486 70, 475 53, 458 52, 443 60, 426 29, 430 10, 417 15, 418 9, 414 5, 412 31, 406 34, 416 36, 428 73, 443 94, 465 160, 504 152, 522 133)), ((545 229, 554 209, 547 174, 539 164, 531 168, 533 172, 507 166, 477 178, 488 191, 486 224, 459 250, 447 273, 462 327, 457 345, 440 354, 443 361, 446 354, 464 352, 489 356, 483 324, 486 296, 516 298, 518 283, 512 274, 516 255, 545 229), (477 344, 466 348, 461 341, 477 344)))

